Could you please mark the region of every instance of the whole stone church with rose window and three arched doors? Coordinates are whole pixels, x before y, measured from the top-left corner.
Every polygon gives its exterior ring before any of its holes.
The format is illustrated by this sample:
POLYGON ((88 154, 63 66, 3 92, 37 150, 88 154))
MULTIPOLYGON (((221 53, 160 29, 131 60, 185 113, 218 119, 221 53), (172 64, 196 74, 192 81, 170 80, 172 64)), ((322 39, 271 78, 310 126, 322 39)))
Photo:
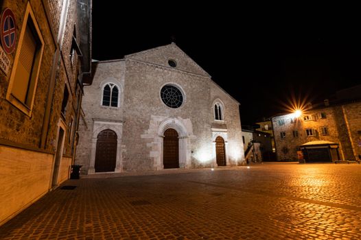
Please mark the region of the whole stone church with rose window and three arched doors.
POLYGON ((93 67, 75 156, 82 173, 244 164, 240 104, 176 44, 93 67))

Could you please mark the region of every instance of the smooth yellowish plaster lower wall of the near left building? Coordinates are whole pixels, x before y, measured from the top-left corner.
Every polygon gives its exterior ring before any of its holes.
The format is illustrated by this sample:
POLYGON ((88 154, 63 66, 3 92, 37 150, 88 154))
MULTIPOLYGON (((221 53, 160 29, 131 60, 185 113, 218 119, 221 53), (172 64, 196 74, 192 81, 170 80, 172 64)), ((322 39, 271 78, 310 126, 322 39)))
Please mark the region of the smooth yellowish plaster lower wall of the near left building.
POLYGON ((0 225, 48 192, 53 159, 52 154, 0 146, 0 225))

